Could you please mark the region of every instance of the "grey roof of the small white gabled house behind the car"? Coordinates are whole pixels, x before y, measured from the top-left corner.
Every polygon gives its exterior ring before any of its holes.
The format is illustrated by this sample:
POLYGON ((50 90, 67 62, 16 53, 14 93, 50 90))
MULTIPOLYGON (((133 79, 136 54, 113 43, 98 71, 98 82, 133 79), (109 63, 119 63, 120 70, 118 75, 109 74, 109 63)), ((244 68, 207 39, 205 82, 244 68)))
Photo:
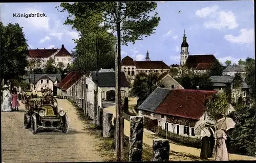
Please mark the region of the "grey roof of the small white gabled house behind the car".
POLYGON ((57 74, 29 74, 29 77, 30 77, 31 83, 37 82, 42 78, 44 79, 49 78, 50 80, 52 80, 52 82, 55 82, 56 80, 58 80, 58 82, 61 81, 61 75, 58 73, 57 74))

